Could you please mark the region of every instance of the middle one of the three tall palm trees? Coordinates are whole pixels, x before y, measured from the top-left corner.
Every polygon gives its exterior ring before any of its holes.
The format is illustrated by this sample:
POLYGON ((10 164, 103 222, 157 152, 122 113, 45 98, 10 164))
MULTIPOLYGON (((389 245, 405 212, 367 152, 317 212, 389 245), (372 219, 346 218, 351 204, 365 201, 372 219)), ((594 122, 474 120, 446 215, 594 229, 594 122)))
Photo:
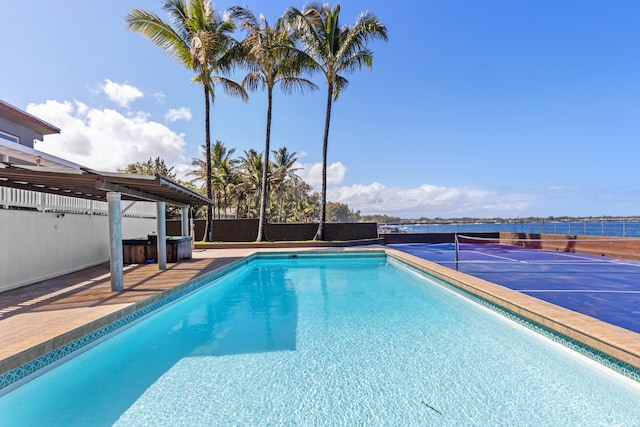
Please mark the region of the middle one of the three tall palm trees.
POLYGON ((265 239, 273 88, 279 84, 284 93, 292 93, 296 90, 303 92, 305 89, 317 89, 317 86, 310 80, 299 77, 302 71, 313 65, 313 61, 295 48, 283 18, 279 18, 275 26, 271 27, 264 16, 260 15, 258 20, 251 9, 236 6, 231 10, 232 16, 242 21, 241 27, 247 33, 242 41, 242 50, 249 73, 243 79, 242 86, 249 90, 256 90, 258 87, 267 89, 267 130, 260 192, 260 220, 256 237, 256 241, 260 242, 265 239))

